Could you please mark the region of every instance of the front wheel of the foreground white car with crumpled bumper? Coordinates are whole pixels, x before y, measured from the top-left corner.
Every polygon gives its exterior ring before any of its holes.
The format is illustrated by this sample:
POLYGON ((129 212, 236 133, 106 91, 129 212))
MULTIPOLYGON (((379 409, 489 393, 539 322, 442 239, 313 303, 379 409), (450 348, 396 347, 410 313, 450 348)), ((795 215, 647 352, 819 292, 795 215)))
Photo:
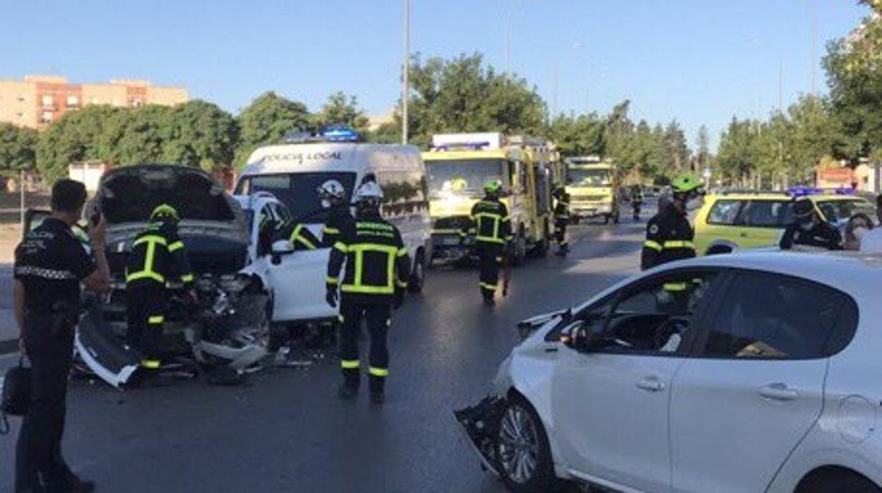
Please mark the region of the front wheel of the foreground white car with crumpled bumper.
POLYGON ((513 396, 497 424, 499 474, 505 485, 519 493, 557 489, 551 449, 542 420, 520 396, 513 396))

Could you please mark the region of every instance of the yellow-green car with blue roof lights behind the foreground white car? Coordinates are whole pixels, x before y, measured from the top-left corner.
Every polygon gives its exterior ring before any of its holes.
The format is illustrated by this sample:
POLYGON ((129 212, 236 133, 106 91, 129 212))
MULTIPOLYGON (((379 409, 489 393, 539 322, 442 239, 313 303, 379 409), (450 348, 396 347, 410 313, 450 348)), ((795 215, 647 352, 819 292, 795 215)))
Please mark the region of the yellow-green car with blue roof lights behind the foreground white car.
MULTIPOLYGON (((822 220, 844 228, 848 218, 864 213, 876 220, 876 206, 856 195, 819 191, 807 196, 822 220)), ((699 255, 776 246, 793 221, 794 197, 787 192, 721 192, 704 198, 695 216, 699 255)))

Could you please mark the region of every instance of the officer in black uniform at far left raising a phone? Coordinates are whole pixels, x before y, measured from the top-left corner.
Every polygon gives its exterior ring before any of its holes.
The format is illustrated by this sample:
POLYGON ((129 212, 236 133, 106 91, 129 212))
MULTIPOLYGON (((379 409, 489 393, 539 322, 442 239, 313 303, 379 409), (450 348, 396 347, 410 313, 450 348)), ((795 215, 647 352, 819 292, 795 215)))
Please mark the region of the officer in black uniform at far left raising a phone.
POLYGON ((93 258, 71 231, 82 215, 86 187, 59 180, 52 187, 52 214, 29 232, 15 250, 13 306, 19 347, 31 362, 30 408, 19 431, 15 490, 87 492, 62 456, 67 377, 74 327, 80 310, 80 283, 101 293, 110 275, 104 254, 107 223, 99 216, 89 231, 93 258))

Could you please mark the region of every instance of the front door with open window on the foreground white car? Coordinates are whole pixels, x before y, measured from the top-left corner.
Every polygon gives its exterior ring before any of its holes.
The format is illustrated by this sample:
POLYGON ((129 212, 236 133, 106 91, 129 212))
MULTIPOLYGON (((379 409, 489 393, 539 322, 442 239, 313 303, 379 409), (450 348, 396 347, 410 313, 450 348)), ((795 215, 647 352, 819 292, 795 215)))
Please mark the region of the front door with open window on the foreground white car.
POLYGON ((571 474, 648 491, 670 489, 669 399, 714 273, 639 281, 579 314, 589 351, 566 349, 552 385, 554 434, 571 474))

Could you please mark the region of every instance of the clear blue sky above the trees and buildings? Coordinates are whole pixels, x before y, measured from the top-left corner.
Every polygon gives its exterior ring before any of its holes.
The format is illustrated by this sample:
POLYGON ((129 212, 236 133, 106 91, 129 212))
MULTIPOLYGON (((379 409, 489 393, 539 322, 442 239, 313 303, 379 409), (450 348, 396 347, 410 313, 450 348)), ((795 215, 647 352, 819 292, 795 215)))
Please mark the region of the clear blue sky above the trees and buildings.
MULTIPOLYGON (((402 11, 403 0, 0 0, 0 78, 147 78, 233 112, 267 90, 310 108, 342 90, 382 114, 399 91, 402 11)), ((866 13, 854 0, 412 0, 411 47, 510 64, 558 111, 627 98, 635 118, 676 118, 693 139, 705 123, 715 142, 732 115, 777 106, 779 60, 785 106, 811 91, 812 66, 825 91, 826 41, 866 13)))

